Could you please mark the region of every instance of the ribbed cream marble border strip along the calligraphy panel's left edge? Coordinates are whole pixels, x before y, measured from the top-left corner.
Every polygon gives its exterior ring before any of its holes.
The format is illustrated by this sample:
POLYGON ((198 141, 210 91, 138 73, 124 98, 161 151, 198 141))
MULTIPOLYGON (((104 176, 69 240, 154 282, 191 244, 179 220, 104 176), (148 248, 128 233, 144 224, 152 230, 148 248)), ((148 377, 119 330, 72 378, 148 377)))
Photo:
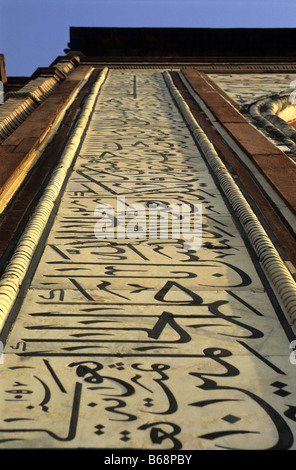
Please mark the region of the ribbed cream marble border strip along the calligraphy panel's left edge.
POLYGON ((14 254, 0 280, 0 331, 3 329, 8 314, 17 298, 21 283, 24 280, 32 256, 48 222, 56 199, 60 193, 68 170, 80 145, 85 126, 92 113, 97 95, 107 76, 104 68, 91 89, 82 108, 81 114, 73 127, 60 162, 52 173, 51 179, 22 234, 14 254))

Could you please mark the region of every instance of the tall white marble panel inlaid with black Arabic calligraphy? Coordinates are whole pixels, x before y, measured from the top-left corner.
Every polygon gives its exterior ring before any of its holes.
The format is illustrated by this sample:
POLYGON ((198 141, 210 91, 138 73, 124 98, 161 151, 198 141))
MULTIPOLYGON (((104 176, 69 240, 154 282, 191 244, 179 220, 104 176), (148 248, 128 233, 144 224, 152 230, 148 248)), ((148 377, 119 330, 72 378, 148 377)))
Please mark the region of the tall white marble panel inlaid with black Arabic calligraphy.
POLYGON ((233 217, 163 74, 109 71, 5 345, 0 448, 295 449, 284 315, 233 217))

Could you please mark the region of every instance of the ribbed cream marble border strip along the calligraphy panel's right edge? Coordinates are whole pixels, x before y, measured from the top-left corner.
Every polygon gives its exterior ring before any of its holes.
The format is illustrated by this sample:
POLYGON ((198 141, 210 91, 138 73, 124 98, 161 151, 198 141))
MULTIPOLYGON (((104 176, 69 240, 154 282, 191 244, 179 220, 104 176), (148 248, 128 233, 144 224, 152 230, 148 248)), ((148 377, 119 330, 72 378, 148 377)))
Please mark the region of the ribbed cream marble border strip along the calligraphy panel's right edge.
POLYGON ((198 145, 216 175, 227 199, 237 214, 275 293, 296 327, 296 283, 261 223, 242 195, 213 144, 199 127, 189 106, 173 84, 168 72, 164 78, 198 145))

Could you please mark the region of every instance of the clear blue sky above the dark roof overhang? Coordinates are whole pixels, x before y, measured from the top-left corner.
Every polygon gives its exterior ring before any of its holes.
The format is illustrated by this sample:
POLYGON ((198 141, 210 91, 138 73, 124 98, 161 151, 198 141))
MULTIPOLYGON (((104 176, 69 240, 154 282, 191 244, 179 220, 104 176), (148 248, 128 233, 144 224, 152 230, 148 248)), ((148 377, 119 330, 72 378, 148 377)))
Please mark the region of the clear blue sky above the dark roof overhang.
POLYGON ((0 0, 7 75, 30 76, 63 55, 70 26, 294 28, 296 1, 0 0))

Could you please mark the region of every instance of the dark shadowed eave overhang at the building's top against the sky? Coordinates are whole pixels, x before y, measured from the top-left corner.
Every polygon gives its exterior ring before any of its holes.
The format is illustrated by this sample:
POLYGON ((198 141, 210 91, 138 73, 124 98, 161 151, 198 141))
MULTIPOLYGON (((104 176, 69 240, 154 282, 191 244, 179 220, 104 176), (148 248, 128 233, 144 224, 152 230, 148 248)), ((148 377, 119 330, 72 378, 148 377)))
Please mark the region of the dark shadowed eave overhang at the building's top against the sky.
POLYGON ((67 51, 110 62, 296 60, 294 28, 71 27, 67 51))

